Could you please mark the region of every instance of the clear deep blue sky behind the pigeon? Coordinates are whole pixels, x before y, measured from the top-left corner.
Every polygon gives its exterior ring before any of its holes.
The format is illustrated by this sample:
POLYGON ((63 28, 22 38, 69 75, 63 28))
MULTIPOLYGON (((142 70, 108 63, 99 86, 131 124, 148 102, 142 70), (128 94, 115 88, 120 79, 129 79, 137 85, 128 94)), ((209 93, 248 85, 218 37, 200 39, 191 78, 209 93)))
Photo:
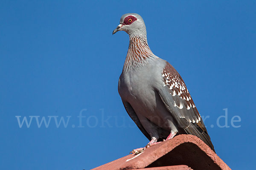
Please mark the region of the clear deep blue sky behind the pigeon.
POLYGON ((218 156, 254 168, 255 9, 253 0, 1 1, 0 168, 87 170, 148 143, 117 91, 129 41, 112 31, 128 12, 143 17, 151 50, 209 116, 218 156), (24 116, 29 127, 18 124, 24 116), (43 117, 48 127, 38 127, 43 117))

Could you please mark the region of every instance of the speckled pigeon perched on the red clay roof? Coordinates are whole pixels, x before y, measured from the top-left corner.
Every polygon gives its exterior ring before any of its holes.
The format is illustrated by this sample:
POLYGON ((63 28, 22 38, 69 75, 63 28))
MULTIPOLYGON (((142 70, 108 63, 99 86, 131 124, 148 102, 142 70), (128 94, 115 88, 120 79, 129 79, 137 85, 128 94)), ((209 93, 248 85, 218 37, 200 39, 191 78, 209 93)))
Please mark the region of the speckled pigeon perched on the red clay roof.
MULTIPOLYGON (((125 31, 130 38, 118 91, 127 113, 150 140, 146 147, 172 139, 176 134, 191 134, 214 150, 180 74, 150 50, 142 17, 124 14, 113 34, 117 31, 125 31)), ((132 153, 140 153, 146 147, 132 153)))

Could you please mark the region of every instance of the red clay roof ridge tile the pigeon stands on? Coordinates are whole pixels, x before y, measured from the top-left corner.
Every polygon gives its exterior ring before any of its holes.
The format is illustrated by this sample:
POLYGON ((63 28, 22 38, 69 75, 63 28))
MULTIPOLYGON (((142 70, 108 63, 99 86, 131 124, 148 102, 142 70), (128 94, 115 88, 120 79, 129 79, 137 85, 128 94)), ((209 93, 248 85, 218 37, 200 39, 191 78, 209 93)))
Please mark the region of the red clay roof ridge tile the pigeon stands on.
POLYGON ((138 155, 127 155, 93 170, 231 170, 207 144, 193 135, 146 148, 138 155), (178 165, 178 166, 177 166, 178 165))

